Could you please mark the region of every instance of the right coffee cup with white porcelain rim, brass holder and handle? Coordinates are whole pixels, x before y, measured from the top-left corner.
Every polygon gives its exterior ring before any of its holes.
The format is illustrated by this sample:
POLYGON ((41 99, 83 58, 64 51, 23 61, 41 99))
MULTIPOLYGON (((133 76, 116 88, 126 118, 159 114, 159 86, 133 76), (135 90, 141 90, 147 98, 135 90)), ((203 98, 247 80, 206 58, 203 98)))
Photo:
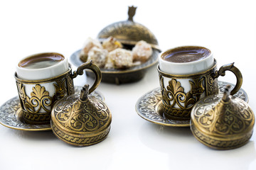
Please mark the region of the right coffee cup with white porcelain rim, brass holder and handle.
POLYGON ((225 71, 235 74, 231 95, 242 86, 242 74, 234 63, 217 70, 213 53, 206 47, 175 47, 159 55, 159 81, 166 118, 189 120, 194 104, 205 96, 218 94, 218 77, 225 71))

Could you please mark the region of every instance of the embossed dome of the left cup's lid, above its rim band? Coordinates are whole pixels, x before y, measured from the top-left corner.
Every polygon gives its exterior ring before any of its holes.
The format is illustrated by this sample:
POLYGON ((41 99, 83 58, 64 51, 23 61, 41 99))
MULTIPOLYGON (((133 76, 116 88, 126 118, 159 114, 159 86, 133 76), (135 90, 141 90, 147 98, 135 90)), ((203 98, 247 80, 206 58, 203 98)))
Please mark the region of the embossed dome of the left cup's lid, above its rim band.
POLYGON ((61 125, 70 130, 91 132, 107 123, 109 110, 101 101, 81 103, 78 97, 70 96, 66 98, 70 103, 63 102, 55 108, 55 118, 61 125), (76 113, 71 115, 71 111, 76 113))

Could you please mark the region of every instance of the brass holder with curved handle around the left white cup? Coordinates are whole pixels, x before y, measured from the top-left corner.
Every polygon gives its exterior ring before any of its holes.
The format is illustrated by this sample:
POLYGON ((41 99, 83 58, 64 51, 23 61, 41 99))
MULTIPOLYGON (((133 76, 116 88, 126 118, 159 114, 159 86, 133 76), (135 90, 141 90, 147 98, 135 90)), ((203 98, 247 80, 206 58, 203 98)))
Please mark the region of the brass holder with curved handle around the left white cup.
POLYGON ((18 96, 23 111, 23 119, 29 124, 50 123, 50 112, 55 101, 64 96, 74 94, 73 79, 83 74, 84 69, 91 69, 95 72, 96 80, 89 91, 94 91, 100 84, 100 69, 92 62, 86 62, 72 73, 71 67, 68 71, 56 77, 39 80, 20 79, 15 73, 18 96))

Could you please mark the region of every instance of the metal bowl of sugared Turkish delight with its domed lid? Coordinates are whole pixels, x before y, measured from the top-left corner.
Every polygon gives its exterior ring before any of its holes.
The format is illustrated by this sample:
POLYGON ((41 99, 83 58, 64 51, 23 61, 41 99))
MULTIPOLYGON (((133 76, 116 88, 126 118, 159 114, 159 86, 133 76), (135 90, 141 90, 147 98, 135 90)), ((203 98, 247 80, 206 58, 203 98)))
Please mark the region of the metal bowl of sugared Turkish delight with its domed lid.
MULTIPOLYGON (((157 63, 161 50, 151 31, 133 21, 136 8, 129 7, 127 21, 112 23, 103 28, 97 38, 87 38, 82 49, 71 55, 70 60, 79 66, 92 60, 100 67, 102 81, 124 84, 139 81, 146 69, 157 63)), ((87 76, 95 77, 90 71, 87 76)))

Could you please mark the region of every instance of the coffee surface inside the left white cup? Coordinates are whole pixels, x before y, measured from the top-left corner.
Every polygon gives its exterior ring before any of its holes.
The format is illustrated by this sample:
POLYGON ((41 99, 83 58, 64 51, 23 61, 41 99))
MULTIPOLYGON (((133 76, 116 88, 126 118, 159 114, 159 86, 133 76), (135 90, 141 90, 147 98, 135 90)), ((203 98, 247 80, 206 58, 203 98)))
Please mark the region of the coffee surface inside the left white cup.
POLYGON ((64 57, 62 55, 57 55, 56 53, 43 53, 41 55, 27 57, 18 63, 18 67, 24 69, 42 69, 58 64, 63 60, 64 57))

